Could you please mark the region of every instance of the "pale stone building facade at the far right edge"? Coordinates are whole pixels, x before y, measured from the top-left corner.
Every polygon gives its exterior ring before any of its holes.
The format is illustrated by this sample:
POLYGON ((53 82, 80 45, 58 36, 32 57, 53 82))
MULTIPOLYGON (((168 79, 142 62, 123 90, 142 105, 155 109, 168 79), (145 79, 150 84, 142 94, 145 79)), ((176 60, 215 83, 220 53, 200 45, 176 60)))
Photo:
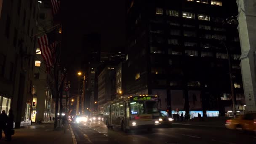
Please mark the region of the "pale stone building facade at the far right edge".
POLYGON ((241 42, 241 71, 245 92, 246 112, 256 112, 256 80, 255 80, 255 51, 256 51, 256 1, 237 0, 239 35, 241 42))

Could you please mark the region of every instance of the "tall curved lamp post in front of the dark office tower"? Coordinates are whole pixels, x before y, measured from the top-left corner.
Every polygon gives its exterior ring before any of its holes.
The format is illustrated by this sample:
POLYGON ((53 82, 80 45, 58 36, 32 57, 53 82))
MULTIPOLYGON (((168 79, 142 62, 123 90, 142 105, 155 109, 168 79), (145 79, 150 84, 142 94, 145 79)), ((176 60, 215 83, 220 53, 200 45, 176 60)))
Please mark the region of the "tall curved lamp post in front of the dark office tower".
POLYGON ((234 118, 236 118, 236 111, 235 111, 235 92, 234 92, 234 84, 233 84, 233 77, 232 77, 232 66, 231 66, 231 59, 229 56, 229 51, 227 49, 227 46, 225 45, 223 40, 218 39, 216 36, 212 36, 213 39, 219 40, 219 42, 224 46, 224 48, 227 51, 227 58, 229 62, 229 80, 230 80, 230 87, 231 87, 231 95, 232 95, 232 106, 233 106, 233 115, 234 118))

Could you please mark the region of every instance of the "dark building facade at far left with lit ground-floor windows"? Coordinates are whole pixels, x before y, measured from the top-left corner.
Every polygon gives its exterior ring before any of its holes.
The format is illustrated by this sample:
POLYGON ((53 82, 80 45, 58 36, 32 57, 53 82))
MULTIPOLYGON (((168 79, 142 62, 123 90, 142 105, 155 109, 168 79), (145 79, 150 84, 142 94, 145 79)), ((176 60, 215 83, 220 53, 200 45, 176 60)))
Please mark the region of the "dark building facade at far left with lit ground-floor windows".
POLYGON ((0 1, 0 109, 13 109, 15 127, 31 123, 38 2, 0 1))

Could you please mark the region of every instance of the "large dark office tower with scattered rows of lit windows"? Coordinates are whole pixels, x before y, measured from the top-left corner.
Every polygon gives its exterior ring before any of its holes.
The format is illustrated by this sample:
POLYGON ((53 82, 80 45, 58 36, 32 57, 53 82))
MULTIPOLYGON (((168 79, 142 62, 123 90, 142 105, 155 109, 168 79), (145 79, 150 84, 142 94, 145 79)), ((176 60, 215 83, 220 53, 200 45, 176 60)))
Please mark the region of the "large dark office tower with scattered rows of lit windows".
POLYGON ((171 113, 225 115, 232 111, 228 50, 236 110, 243 111, 235 2, 127 0, 126 5, 127 93, 157 94, 159 109, 171 113))

